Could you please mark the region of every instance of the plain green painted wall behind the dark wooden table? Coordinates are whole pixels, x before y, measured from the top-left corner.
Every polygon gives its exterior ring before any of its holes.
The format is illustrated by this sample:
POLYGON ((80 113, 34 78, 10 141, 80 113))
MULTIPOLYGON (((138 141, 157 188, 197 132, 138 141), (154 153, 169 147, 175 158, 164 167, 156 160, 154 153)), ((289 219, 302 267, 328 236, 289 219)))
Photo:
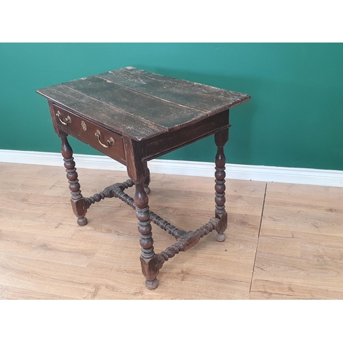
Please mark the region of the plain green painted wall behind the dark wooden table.
MULTIPOLYGON (((59 152, 38 88, 132 65, 248 93, 228 163, 343 170, 343 44, 2 43, 0 149, 59 152)), ((74 139, 75 153, 99 154, 74 139)), ((213 137, 162 158, 212 162, 213 137)))

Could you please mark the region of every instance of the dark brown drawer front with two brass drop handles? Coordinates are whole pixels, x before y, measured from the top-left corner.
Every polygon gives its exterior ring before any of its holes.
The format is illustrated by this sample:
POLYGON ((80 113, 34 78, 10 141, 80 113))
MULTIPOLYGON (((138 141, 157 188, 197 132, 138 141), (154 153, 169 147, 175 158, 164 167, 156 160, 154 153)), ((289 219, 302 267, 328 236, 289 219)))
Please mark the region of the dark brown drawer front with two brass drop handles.
MULTIPOLYGON (((126 161, 123 148, 123 137, 106 128, 91 123, 59 106, 53 104, 54 116, 60 130, 91 145, 99 152, 115 158, 119 162, 126 161)), ((125 163, 124 163, 125 164, 125 163)))

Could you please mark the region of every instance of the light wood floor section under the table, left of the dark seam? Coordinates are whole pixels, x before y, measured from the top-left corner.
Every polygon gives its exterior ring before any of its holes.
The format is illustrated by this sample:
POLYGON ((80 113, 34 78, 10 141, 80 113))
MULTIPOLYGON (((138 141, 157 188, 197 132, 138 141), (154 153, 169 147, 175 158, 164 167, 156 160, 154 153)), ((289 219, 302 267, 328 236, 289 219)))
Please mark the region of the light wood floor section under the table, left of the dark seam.
MULTIPOLYGON (((149 291, 141 274, 134 211, 119 200, 106 199, 88 210, 86 226, 77 226, 64 173, 62 163, 0 163, 0 298, 247 298, 265 182, 245 186, 227 180, 226 241, 217 242, 210 233, 180 252, 165 262, 160 285, 149 291), (240 191, 239 201, 231 202, 240 191), (249 215, 244 207, 250 208, 249 215)), ((84 196, 128 177, 126 172, 91 169, 78 169, 78 174, 84 196)), ((214 216, 214 176, 152 174, 150 187, 150 208, 180 229, 195 230, 214 216)), ((128 189, 130 196, 133 192, 128 189)), ((153 233, 156 252, 175 242, 155 225, 153 233)))

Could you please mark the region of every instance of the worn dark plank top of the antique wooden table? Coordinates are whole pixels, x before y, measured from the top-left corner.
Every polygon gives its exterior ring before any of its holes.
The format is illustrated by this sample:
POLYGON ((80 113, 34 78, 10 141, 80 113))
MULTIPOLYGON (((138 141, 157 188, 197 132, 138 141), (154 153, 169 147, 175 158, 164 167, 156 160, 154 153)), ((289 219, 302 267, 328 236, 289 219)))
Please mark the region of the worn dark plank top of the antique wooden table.
POLYGON ((54 104, 137 141, 189 126, 250 99, 134 67, 37 91, 54 104))

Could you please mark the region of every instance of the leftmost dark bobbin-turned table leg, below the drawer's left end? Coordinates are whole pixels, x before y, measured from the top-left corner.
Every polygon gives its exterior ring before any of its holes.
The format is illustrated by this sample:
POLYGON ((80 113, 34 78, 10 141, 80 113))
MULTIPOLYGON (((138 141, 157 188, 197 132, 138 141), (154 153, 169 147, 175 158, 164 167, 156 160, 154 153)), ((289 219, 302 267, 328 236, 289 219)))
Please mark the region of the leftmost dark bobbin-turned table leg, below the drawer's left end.
POLYGON ((80 183, 78 180, 78 173, 76 172, 75 162, 73 158, 73 150, 67 140, 67 135, 60 137, 62 140, 61 153, 63 156, 64 167, 67 171, 67 179, 69 182, 69 189, 71 191, 71 206, 76 217, 78 217, 78 224, 80 226, 87 224, 87 219, 84 216, 87 212, 86 204, 80 191, 80 183))

